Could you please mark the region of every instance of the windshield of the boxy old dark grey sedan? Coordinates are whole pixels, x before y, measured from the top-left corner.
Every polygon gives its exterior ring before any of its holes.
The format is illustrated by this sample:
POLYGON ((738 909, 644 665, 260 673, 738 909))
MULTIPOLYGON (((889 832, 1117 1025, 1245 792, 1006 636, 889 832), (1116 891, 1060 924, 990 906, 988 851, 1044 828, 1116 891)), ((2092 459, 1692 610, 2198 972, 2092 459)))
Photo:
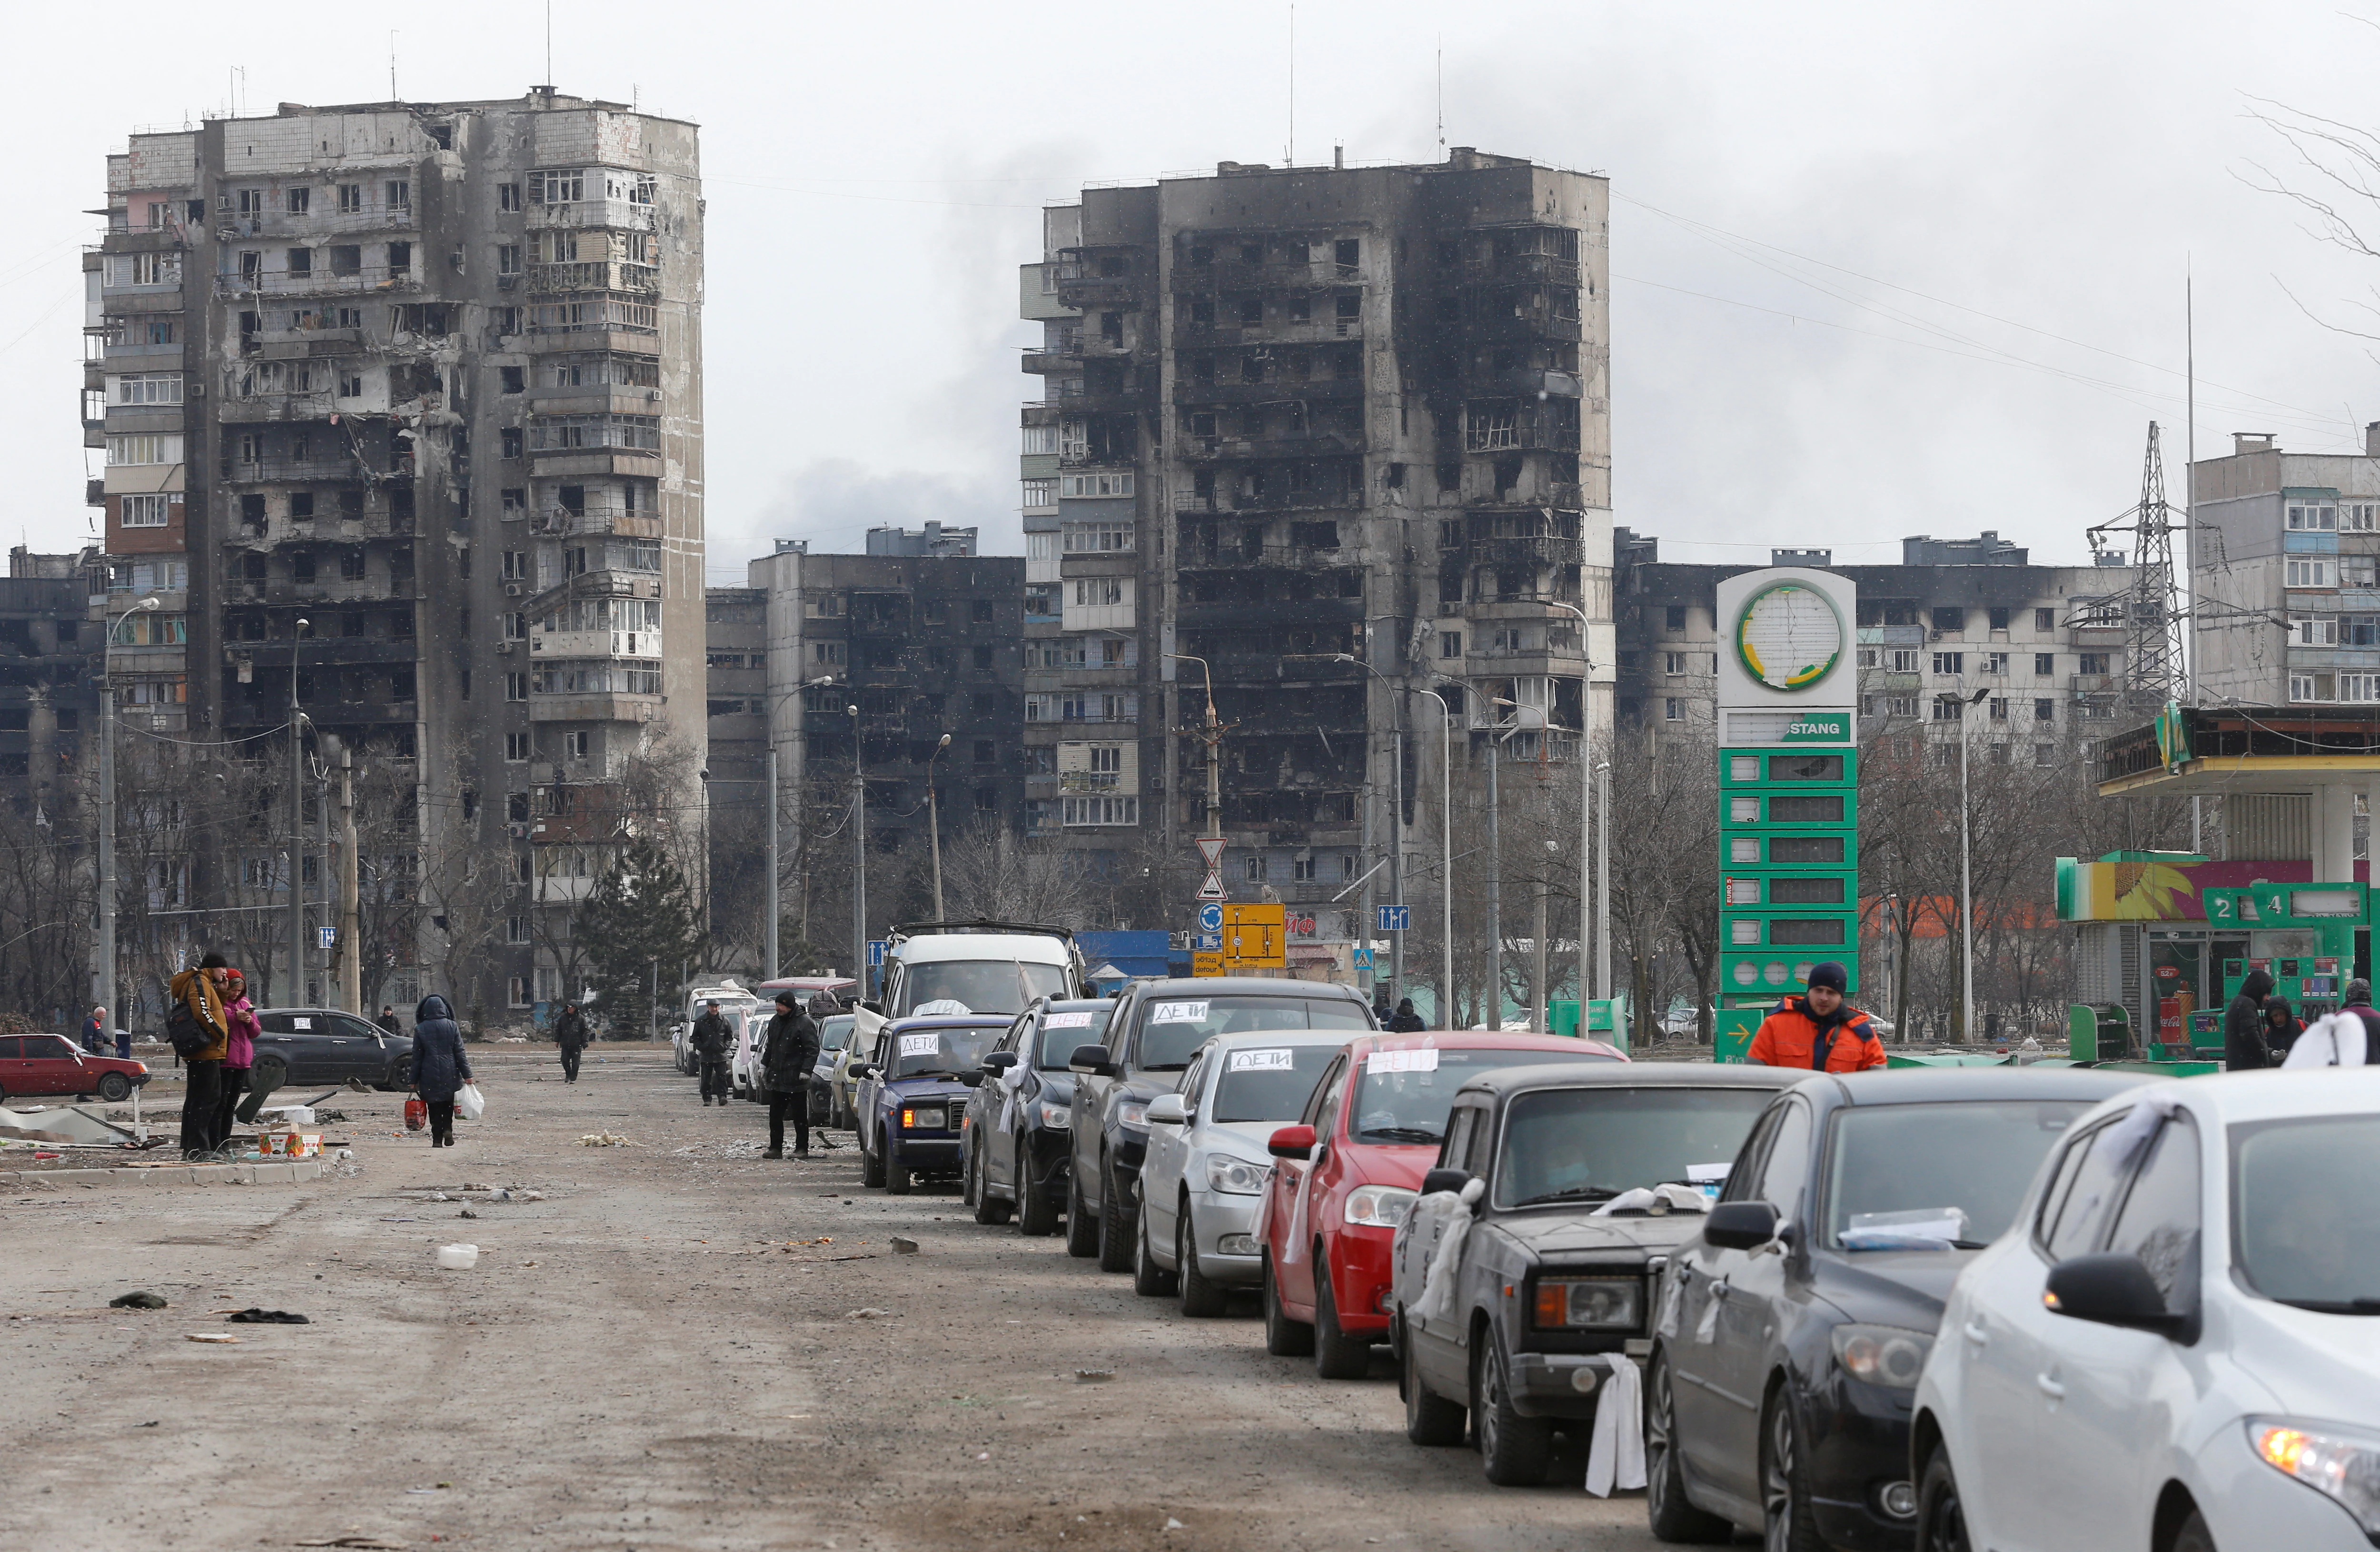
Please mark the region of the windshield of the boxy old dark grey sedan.
POLYGON ((1609 1202, 1635 1185, 1690 1183, 1697 1164, 1726 1169, 1773 1090, 1547 1088, 1504 1109, 1495 1204, 1609 1202))

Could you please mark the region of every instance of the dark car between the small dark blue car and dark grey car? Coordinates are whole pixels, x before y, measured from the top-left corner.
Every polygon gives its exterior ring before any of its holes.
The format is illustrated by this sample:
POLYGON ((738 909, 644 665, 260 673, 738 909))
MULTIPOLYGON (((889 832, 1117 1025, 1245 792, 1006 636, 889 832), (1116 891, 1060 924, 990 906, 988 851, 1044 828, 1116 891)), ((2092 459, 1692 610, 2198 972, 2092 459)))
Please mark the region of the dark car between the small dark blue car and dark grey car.
POLYGON ((1066 1138, 1073 1119, 1073 1074, 1066 1062, 1078 1045, 1107 1033, 1116 1005, 1097 1000, 1040 997, 983 1057, 983 1071, 959 1081, 976 1093, 966 1100, 959 1135, 966 1204, 978 1224, 1007 1224, 1031 1235, 1057 1231, 1066 1207, 1066 1138))

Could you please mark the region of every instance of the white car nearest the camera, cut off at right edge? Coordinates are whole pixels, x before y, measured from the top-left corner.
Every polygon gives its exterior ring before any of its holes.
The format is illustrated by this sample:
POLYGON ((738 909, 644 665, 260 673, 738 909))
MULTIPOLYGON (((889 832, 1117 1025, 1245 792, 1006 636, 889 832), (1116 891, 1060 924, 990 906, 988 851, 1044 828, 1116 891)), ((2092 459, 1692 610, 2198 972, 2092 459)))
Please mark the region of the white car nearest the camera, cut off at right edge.
POLYGON ((2380 1066, 2106 1100, 1959 1278, 1918 1552, 2380 1542, 2380 1066))

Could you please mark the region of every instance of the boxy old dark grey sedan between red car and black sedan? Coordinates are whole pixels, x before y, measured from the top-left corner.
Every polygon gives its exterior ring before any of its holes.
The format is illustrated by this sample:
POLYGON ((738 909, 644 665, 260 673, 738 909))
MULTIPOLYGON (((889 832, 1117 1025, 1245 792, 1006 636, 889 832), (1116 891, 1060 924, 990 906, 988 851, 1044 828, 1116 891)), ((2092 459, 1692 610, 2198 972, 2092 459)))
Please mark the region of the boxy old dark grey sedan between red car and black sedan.
POLYGON ((1566 1062, 1464 1083, 1438 1169, 1390 1259, 1407 1438, 1459 1445, 1468 1414, 1488 1481, 1542 1483, 1554 1431, 1583 1431, 1611 1364, 1645 1352, 1654 1285, 1702 1228, 1706 1197, 1695 1176, 1735 1159, 1775 1090, 1806 1076, 1566 1062), (1466 1209, 1454 1193, 1473 1181, 1480 1190, 1466 1209), (1592 1216, 1664 1183, 1680 1190, 1592 1216), (1423 1304, 1433 1252, 1464 1216, 1461 1250, 1440 1271, 1452 1283, 1423 1304))

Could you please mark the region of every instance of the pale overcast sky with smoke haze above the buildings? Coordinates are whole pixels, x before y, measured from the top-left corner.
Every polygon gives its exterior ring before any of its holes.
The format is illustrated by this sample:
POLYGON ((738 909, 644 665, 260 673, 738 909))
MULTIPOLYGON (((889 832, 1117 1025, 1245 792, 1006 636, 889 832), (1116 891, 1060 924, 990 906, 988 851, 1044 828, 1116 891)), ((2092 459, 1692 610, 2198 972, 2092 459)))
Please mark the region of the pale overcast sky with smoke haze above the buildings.
MULTIPOLYGON (((1692 7, 552 10, 552 79, 702 126, 709 569, 769 538, 976 521, 1016 552, 1016 264, 1083 181, 1438 159, 1445 138, 1611 176, 1616 521, 1668 559, 1997 528, 2080 559, 2182 440, 2347 452, 2380 419, 2356 321, 2380 264, 2249 183, 2280 98, 2380 124, 2380 31, 2332 2, 1692 7), (1442 93, 1440 93, 1442 50, 1442 93), (2292 295, 2297 300, 2292 300, 2292 295), (2304 307, 2301 307, 2304 305, 2304 307)), ((2380 14, 2380 12, 2375 12, 2380 14)), ((507 98, 543 5, 26 7, 5 79, 10 543, 83 543, 81 274, 133 126, 278 100, 507 98), (233 71, 245 79, 233 79, 233 71)), ((2297 174, 2290 174, 2297 176, 2297 174)), ((2370 314, 2366 314, 2368 319, 2370 314)), ((2173 478, 2180 493, 2180 476, 2173 478)))

